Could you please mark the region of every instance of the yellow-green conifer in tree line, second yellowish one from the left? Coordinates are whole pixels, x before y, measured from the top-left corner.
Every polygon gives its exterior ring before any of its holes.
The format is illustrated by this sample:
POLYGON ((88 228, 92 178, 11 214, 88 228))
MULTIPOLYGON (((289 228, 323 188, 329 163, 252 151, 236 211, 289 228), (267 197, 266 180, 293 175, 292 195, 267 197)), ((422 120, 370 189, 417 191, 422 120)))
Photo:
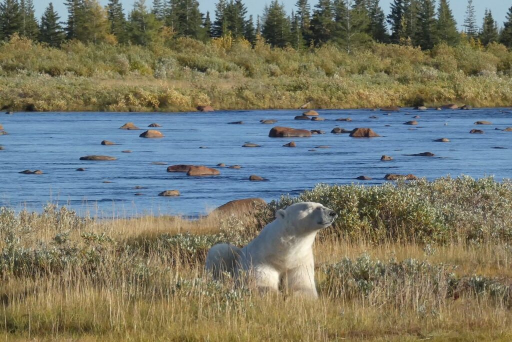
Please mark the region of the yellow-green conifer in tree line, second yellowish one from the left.
POLYGON ((127 24, 130 42, 147 46, 154 40, 161 24, 147 10, 145 0, 136 0, 127 24))

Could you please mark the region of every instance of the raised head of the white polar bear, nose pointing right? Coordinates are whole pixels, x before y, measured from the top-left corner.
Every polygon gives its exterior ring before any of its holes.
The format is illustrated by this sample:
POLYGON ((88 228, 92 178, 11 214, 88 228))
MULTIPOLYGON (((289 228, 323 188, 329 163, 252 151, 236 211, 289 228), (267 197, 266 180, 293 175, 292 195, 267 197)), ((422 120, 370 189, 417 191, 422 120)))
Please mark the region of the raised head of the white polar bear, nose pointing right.
POLYGON ((315 232, 329 227, 337 216, 334 210, 315 202, 295 203, 275 213, 277 220, 281 220, 286 227, 293 227, 297 233, 315 232))

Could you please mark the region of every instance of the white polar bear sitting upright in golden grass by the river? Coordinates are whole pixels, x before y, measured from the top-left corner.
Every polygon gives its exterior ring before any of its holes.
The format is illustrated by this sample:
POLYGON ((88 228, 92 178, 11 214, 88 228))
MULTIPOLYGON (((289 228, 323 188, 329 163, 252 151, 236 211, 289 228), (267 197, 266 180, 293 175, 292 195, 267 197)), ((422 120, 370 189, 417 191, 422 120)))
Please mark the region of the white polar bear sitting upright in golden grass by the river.
POLYGON ((275 220, 247 246, 213 246, 206 256, 206 269, 217 279, 229 272, 240 281, 245 274, 259 289, 283 289, 316 298, 312 246, 316 233, 329 227, 336 217, 333 210, 319 203, 293 204, 278 210, 275 220))

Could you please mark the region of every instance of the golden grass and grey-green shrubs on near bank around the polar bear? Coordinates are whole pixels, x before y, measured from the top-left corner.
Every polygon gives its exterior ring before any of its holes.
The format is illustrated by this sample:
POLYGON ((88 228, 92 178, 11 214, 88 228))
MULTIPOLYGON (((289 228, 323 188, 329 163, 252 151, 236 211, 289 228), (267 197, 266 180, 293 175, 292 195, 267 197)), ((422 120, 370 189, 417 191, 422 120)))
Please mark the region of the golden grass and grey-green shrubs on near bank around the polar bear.
POLYGON ((317 186, 251 213, 97 220, 0 211, 5 340, 512 339, 512 183, 317 186), (204 272, 276 209, 339 213, 314 248, 319 299, 260 296, 204 272))

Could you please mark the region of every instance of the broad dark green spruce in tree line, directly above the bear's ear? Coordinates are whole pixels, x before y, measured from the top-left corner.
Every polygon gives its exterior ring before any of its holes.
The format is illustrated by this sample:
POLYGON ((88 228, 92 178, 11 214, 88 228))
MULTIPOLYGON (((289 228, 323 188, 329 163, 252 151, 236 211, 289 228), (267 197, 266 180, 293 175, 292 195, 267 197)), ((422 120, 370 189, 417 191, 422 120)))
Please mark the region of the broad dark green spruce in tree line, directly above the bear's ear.
POLYGON ((291 40, 290 20, 278 0, 265 7, 262 35, 267 43, 280 48, 287 46, 291 40))

